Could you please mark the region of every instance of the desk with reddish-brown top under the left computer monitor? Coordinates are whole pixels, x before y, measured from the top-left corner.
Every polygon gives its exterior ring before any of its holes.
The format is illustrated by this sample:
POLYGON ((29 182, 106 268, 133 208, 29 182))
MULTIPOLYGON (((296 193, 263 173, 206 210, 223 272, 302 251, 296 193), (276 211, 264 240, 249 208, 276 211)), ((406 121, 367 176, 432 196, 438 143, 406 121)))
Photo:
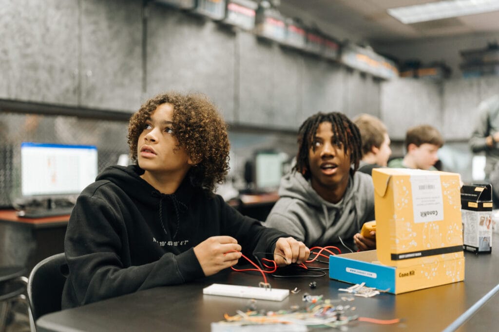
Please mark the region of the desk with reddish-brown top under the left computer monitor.
POLYGON ((0 265, 23 265, 28 271, 50 255, 64 251, 69 216, 19 218, 0 210, 0 265))

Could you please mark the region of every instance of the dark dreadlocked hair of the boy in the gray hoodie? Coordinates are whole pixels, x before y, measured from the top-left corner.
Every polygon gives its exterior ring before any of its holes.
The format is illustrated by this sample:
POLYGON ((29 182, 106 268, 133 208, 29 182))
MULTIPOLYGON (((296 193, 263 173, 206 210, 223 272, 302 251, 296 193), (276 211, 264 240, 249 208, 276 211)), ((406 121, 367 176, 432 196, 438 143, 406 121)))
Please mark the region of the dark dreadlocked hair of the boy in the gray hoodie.
POLYGON ((298 153, 296 155, 296 171, 303 174, 305 179, 310 179, 310 165, 308 163, 308 152, 315 151, 312 145, 315 133, 319 124, 330 122, 334 133, 333 143, 342 145, 345 154, 350 155, 350 163, 354 165, 352 174, 359 168, 359 161, 362 158, 362 140, 359 128, 343 113, 318 112, 309 116, 298 129, 298 153), (341 144, 340 144, 341 143, 341 144))

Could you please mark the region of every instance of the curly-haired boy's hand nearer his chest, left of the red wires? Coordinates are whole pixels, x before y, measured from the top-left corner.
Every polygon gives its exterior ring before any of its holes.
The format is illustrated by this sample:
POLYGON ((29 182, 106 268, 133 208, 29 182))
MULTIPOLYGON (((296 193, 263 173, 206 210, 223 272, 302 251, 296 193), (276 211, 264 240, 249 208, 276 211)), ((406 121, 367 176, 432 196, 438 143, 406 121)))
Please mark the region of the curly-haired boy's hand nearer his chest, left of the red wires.
POLYGON ((207 238, 194 247, 194 253, 207 277, 236 265, 242 255, 238 241, 224 235, 207 238))

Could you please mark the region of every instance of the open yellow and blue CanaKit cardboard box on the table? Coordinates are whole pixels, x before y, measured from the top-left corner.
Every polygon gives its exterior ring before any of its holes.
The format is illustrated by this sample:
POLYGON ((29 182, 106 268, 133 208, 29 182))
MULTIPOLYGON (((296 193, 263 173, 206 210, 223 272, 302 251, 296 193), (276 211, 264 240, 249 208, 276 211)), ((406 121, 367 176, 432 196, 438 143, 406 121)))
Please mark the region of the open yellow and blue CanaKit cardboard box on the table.
POLYGON ((329 276, 399 294, 464 280, 459 174, 378 168, 377 250, 330 256, 329 276))

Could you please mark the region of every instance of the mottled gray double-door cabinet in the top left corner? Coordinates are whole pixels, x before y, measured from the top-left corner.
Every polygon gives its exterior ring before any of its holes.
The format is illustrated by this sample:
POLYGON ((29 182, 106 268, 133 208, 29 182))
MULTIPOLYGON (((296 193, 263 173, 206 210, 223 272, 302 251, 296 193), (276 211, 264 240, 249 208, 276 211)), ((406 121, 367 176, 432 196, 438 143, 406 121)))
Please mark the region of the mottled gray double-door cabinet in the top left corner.
POLYGON ((0 8, 0 98, 140 106, 140 1, 0 0, 0 8))

